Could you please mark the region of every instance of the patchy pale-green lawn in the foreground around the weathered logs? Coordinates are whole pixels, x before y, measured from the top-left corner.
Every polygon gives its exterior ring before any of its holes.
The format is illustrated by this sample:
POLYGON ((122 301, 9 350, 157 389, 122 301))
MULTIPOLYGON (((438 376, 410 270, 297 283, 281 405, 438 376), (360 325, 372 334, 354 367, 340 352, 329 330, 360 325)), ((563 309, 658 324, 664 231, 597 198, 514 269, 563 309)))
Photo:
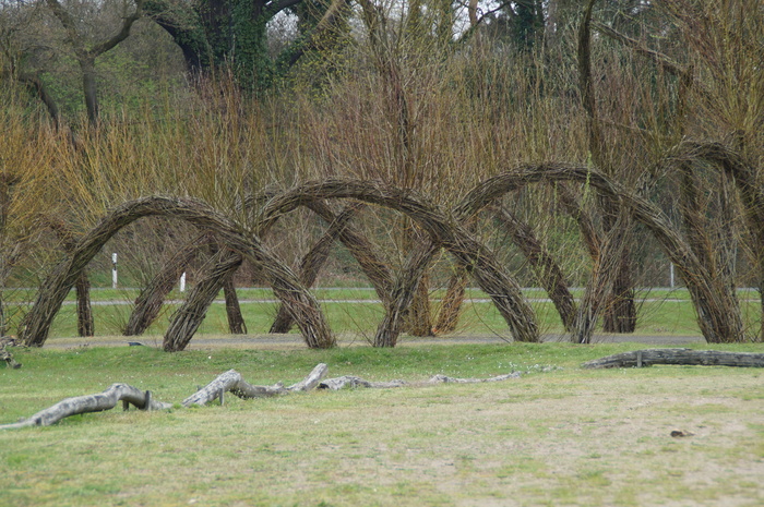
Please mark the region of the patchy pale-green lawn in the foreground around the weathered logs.
MULTIPOLYGON (((327 351, 14 350, 0 423, 126 382, 169 402, 235 367, 252 384, 330 376, 496 384, 226 398, 0 431, 0 506, 760 506, 760 370, 585 371, 637 343, 327 351), (693 435, 670 436, 672 431, 693 435)), ((764 352, 762 345, 697 346, 764 352)))

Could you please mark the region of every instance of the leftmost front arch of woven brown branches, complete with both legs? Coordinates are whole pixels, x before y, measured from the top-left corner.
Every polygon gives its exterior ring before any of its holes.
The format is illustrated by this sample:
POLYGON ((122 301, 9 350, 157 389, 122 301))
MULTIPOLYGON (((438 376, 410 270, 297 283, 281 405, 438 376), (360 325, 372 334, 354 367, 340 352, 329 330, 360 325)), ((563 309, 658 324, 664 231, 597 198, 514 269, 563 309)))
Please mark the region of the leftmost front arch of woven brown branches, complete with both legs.
POLYGON ((45 343, 53 317, 85 266, 119 230, 148 216, 186 220, 203 231, 214 233, 227 249, 240 253, 262 267, 276 297, 289 306, 309 347, 327 348, 335 345, 335 338, 315 298, 256 237, 244 234, 234 221, 204 203, 166 196, 143 197, 122 204, 76 243, 69 258, 56 266, 48 276, 32 310, 24 318, 20 338, 25 345, 41 347, 45 343))

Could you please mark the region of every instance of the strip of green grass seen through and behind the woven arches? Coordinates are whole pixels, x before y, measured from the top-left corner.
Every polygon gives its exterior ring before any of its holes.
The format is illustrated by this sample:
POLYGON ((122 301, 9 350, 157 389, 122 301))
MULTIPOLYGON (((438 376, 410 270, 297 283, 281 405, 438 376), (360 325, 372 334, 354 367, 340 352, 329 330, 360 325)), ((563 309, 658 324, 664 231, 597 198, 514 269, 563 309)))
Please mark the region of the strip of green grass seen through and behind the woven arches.
MULTIPOLYGON (((270 289, 238 289, 241 300, 241 309, 251 334, 267 333, 276 313, 276 303, 270 289)), ((338 333, 354 333, 361 339, 373 336, 377 325, 382 318, 382 304, 377 301, 373 290, 365 288, 319 288, 315 295, 322 302, 330 325, 338 333)), ((581 291, 578 291, 581 292, 581 291)), ((9 294, 11 301, 15 298, 32 300, 32 293, 21 291, 9 294), (11 298, 10 295, 13 295, 11 298)), ((541 331, 545 334, 562 333, 562 325, 553 305, 545 301, 545 293, 540 290, 527 289, 526 294, 537 312, 541 331)), ((138 295, 136 289, 99 289, 92 292, 94 301, 93 312, 96 324, 96 336, 112 336, 121 333, 132 311, 132 302, 138 295), (112 304, 116 303, 116 304, 112 304)), ((180 301, 186 294, 172 293, 171 301, 180 301)), ((508 326, 503 318, 488 302, 488 297, 473 289, 463 307, 459 327, 456 334, 461 335, 508 335, 508 326)), ((580 295, 580 294, 578 294, 580 295)), ((438 311, 438 301, 442 291, 433 291, 433 311, 438 311)), ((218 303, 213 304, 199 330, 200 335, 219 335, 227 333, 227 319, 220 294, 218 303)), ((759 325, 759 302, 756 294, 750 291, 740 293, 743 311, 747 313, 747 323, 751 335, 755 335, 759 325)), ((56 337, 71 337, 76 333, 74 314, 74 295, 70 293, 68 301, 59 312, 50 333, 51 339, 56 337)), ((700 335, 695 314, 690 302, 689 294, 683 289, 643 290, 637 298, 640 318, 637 334, 642 335, 700 335)), ((160 335, 166 329, 169 318, 178 307, 177 303, 165 305, 162 317, 150 328, 150 334, 160 335)), ((9 312, 14 314, 14 312, 9 312)), ((21 313, 15 312, 11 321, 10 329, 14 329, 21 313)), ((296 331, 296 330, 295 330, 296 331)))

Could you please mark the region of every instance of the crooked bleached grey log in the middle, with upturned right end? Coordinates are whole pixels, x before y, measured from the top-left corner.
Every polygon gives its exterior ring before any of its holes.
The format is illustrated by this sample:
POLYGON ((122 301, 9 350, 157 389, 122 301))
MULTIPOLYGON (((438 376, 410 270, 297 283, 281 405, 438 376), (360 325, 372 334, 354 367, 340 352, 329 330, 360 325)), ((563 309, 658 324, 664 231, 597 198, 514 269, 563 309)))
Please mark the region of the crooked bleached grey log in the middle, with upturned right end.
POLYGON ((219 399, 220 405, 223 405, 224 393, 231 393, 239 398, 249 399, 268 398, 293 391, 308 391, 319 385, 319 382, 326 375, 327 371, 329 366, 324 363, 320 363, 302 381, 293 386, 284 387, 282 383, 274 384, 273 386, 253 386, 244 381, 241 374, 236 370, 228 370, 218 375, 202 389, 186 398, 182 405, 183 407, 191 407, 192 405, 205 406, 215 399, 219 399))

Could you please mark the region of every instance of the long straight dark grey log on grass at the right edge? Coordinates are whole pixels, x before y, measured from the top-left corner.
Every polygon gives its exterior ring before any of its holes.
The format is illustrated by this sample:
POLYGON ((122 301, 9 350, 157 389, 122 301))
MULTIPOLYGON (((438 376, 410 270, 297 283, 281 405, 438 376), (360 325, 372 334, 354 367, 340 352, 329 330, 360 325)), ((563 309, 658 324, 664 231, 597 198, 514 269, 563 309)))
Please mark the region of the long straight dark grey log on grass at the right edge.
POLYGON ((653 364, 764 367, 764 353, 693 349, 644 349, 595 359, 585 362, 581 367, 642 367, 652 366, 653 364))

